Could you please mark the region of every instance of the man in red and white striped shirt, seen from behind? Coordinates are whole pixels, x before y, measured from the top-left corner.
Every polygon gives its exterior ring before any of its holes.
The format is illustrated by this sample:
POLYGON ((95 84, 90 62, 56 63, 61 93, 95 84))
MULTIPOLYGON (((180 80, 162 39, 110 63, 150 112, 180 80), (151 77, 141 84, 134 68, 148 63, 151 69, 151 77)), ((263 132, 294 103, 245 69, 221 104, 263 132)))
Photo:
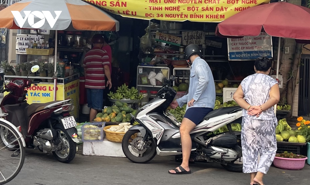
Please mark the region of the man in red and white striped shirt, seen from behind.
POLYGON ((110 60, 108 53, 102 50, 104 38, 100 34, 95 34, 92 38, 93 48, 86 53, 83 67, 85 75, 85 88, 87 93, 88 107, 91 108, 89 120, 92 121, 98 110, 102 110, 103 92, 106 87, 105 77, 107 77, 107 86, 112 87, 110 60))

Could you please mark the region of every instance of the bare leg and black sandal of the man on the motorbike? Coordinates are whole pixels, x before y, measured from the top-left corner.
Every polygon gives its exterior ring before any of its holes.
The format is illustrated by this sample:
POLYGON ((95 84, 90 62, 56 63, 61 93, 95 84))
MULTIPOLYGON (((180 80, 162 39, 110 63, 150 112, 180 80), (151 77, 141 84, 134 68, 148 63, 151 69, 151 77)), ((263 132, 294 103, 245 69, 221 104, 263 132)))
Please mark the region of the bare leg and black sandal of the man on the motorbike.
MULTIPOLYGON (((188 161, 189 157, 191 155, 191 149, 192 149, 192 139, 189 135, 189 133, 196 127, 196 124, 193 123, 188 118, 183 118, 182 124, 180 126, 180 134, 181 134, 181 142, 182 142, 182 164, 181 166, 184 168, 184 170, 189 171, 188 161)), ((181 171, 179 167, 176 169, 181 171)), ((175 170, 170 170, 170 173, 175 173, 175 170)))

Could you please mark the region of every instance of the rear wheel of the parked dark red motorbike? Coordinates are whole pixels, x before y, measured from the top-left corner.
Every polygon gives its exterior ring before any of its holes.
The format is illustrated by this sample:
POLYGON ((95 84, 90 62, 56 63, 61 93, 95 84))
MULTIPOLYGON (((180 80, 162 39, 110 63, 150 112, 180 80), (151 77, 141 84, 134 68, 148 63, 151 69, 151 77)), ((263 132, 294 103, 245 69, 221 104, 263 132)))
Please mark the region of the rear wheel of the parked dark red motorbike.
POLYGON ((58 133, 58 138, 63 142, 62 150, 54 151, 54 157, 63 163, 69 163, 73 160, 77 150, 77 144, 71 139, 68 132, 65 131, 60 124, 56 124, 54 129, 58 133))

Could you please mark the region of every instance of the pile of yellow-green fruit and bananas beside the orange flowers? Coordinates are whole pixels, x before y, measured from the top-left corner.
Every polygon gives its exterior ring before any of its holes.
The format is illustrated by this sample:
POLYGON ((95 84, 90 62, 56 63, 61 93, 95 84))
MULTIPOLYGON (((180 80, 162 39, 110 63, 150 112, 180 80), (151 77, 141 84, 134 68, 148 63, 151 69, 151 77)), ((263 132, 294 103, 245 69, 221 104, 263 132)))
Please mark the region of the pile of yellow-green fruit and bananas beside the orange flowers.
POLYGON ((276 139, 281 142, 306 143, 306 138, 299 135, 299 130, 292 130, 285 118, 278 122, 276 127, 276 139))

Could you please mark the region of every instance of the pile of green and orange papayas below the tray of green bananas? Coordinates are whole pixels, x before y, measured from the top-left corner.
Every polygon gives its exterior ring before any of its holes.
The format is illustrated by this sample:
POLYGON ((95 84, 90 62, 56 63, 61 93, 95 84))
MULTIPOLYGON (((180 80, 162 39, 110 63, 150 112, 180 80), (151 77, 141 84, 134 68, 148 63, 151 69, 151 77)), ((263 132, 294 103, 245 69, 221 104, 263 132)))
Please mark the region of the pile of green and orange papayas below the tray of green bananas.
POLYGON ((131 114, 135 116, 137 110, 128 107, 127 103, 116 101, 112 107, 107 107, 98 113, 94 122, 130 122, 131 114))

